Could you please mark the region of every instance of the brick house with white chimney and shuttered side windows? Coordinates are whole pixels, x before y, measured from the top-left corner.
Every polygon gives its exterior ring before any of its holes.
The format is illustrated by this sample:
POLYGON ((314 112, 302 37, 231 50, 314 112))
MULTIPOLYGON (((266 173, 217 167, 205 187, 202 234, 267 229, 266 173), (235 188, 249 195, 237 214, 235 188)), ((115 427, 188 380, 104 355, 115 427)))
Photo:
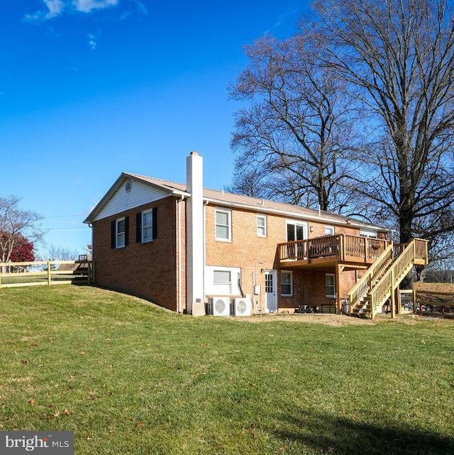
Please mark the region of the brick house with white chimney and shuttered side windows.
POLYGON ((204 189, 202 167, 192 152, 186 184, 118 177, 84 221, 98 285, 189 314, 340 312, 389 247, 380 226, 204 189))

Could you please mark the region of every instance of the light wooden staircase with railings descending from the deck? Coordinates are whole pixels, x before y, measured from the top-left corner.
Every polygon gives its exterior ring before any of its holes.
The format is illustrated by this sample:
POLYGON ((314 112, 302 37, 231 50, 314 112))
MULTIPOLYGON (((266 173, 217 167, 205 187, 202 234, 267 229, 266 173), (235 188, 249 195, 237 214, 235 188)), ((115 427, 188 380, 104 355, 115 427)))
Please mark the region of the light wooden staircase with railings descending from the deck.
POLYGON ((413 265, 427 263, 426 240, 413 239, 397 248, 391 242, 348 293, 349 314, 374 319, 382 305, 390 299, 394 317, 395 294, 399 284, 413 265))

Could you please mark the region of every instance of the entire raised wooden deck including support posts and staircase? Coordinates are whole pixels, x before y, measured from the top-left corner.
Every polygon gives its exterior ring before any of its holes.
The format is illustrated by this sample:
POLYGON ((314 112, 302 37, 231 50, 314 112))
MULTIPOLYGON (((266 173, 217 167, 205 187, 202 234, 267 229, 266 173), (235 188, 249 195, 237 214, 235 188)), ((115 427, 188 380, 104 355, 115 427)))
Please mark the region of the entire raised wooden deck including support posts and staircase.
MULTIPOLYGON (((414 265, 428 263, 427 243, 412 239, 409 243, 394 244, 383 239, 338 234, 279 243, 277 255, 281 268, 333 269, 337 290, 341 289, 344 270, 367 269, 348 292, 349 312, 369 314, 373 319, 388 299, 395 317, 394 295, 399 283, 414 265)), ((345 297, 340 292, 336 295, 338 312, 345 297)))

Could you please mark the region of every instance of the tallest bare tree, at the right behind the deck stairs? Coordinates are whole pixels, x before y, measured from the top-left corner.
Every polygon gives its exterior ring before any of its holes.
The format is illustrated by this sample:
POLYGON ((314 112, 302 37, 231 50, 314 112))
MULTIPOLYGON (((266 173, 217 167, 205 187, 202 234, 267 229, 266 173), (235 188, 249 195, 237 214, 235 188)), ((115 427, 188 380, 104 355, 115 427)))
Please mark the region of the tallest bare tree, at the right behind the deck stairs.
POLYGON ((324 58, 367 110, 350 187, 400 241, 454 231, 454 22, 445 0, 320 0, 324 58))

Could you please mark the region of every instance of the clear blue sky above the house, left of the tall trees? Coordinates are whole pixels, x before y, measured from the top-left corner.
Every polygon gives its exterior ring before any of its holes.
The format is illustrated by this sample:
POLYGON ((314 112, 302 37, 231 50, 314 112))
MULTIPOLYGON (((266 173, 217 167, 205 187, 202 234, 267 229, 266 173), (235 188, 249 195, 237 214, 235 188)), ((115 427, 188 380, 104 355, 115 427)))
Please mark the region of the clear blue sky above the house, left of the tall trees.
MULTIPOLYGON (((285 38, 297 0, 21 0, 0 6, 0 195, 42 214, 45 242, 77 249, 82 224, 122 171, 231 182, 227 86, 243 46, 285 38)), ((45 257, 45 246, 38 247, 45 257)))

